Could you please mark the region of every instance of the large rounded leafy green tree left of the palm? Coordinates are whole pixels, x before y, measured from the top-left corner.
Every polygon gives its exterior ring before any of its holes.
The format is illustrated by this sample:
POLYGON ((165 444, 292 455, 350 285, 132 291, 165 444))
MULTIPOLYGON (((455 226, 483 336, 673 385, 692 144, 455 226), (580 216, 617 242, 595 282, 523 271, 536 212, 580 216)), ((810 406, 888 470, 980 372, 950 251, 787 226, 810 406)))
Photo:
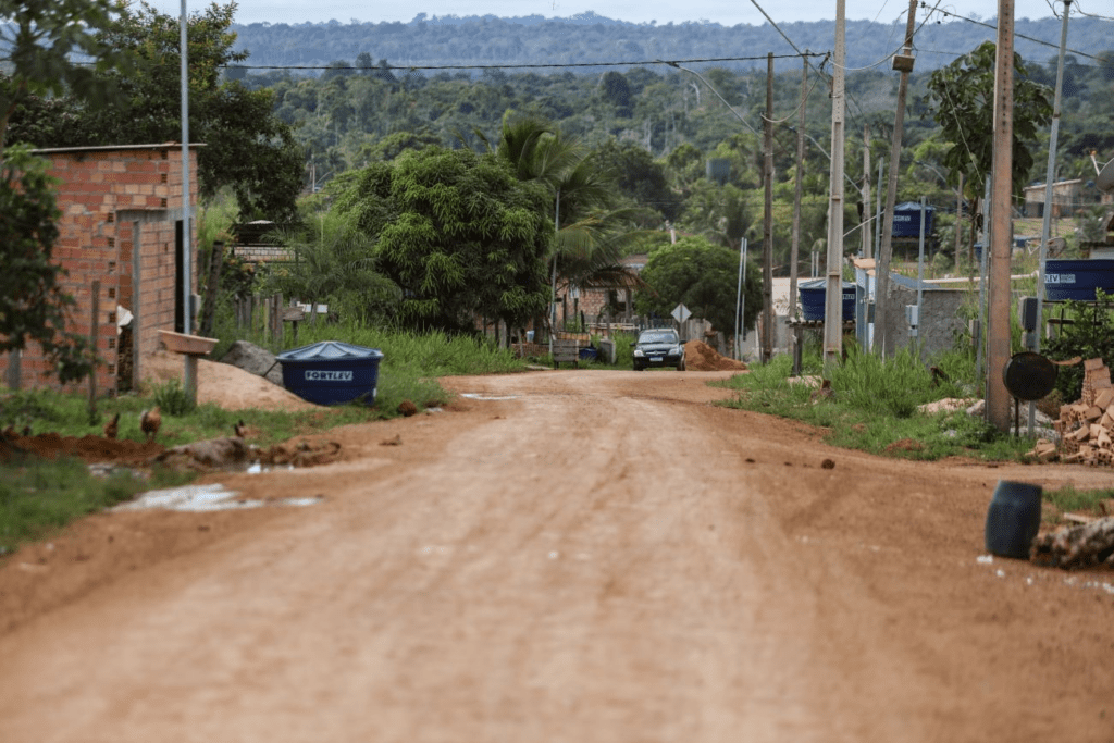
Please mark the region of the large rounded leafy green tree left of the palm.
POLYGON ((495 154, 427 147, 345 179, 334 208, 374 237, 378 270, 403 292, 401 325, 521 325, 549 300, 549 197, 495 154))

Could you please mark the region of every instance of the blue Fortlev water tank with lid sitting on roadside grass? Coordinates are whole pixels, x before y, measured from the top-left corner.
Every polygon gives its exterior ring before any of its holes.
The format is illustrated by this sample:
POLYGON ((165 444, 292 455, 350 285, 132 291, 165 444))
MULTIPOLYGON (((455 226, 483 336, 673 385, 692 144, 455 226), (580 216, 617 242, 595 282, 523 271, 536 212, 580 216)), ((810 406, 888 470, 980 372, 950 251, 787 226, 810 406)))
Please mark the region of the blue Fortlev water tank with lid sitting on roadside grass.
POLYGON ((375 402, 383 359, 379 349, 322 341, 283 351, 275 359, 282 364, 283 387, 303 400, 319 405, 375 402))

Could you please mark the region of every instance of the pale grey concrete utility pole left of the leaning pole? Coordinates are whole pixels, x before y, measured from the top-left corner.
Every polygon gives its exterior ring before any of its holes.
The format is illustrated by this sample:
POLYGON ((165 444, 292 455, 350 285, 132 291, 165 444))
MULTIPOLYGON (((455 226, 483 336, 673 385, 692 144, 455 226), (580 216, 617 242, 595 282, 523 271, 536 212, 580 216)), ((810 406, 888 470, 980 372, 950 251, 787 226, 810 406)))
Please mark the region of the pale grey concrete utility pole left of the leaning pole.
POLYGON ((847 2, 836 0, 836 55, 832 72, 832 168, 828 204, 828 282, 824 295, 824 369, 843 355, 843 67, 847 61, 847 2))

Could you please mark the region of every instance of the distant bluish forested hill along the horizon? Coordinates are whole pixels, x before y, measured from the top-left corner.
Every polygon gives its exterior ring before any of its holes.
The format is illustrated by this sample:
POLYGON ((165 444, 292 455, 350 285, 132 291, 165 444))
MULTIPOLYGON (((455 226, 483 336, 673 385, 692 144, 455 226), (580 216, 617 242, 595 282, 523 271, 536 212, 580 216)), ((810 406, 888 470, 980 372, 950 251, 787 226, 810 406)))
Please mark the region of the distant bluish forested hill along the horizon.
MULTIPOLYGON (((1055 57, 1061 21, 1056 18, 1016 21, 1016 51, 1026 60, 1046 62, 1055 57), (1038 39, 1036 43, 1024 37, 1038 39)), ((834 41, 834 21, 781 25, 801 50, 827 52, 834 41)), ((628 23, 594 13, 568 19, 447 17, 419 13, 409 23, 252 23, 234 25, 236 47, 251 52, 247 66, 324 67, 336 60, 351 62, 360 55, 385 60, 392 67, 495 65, 583 65, 586 62, 645 63, 654 60, 752 58, 717 62, 720 67, 765 67, 765 55, 793 53, 769 23, 725 27, 711 22, 628 23)), ((1087 56, 1114 50, 1112 23, 1095 18, 1073 18, 1068 48, 1083 56, 1076 61, 1097 65, 1087 56)), ((905 22, 848 21, 847 65, 851 69, 879 65, 901 46, 905 22)), ((935 20, 916 36, 917 70, 947 65, 970 51, 995 31, 968 20, 935 20)), ((1107 57, 1108 59, 1108 57, 1107 57)), ((587 70, 585 70, 587 71, 587 70)), ((593 70, 599 71, 599 70, 593 70)))

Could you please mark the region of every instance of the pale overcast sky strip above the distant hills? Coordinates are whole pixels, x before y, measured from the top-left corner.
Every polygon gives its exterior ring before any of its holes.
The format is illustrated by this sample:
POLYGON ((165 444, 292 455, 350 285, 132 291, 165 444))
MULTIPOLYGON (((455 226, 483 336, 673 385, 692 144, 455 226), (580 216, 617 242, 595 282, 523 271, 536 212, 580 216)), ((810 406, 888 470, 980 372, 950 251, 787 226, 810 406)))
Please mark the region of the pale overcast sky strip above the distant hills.
MULTIPOLYGON (((224 0, 221 0, 222 2, 224 0)), ((1052 0, 1015 0, 1014 18, 1047 18, 1053 14, 1052 0)), ((1102 12, 1110 0, 1078 0, 1075 7, 1089 12, 1102 12), (1089 7, 1088 7, 1089 6, 1089 7)), ((163 12, 177 16, 182 3, 174 0, 152 2, 163 12)), ((208 4, 208 0, 187 0, 193 11, 208 4)), ((499 17, 545 16, 546 18, 568 18, 577 13, 594 11, 615 20, 634 23, 682 23, 685 21, 712 21, 723 26, 749 23, 761 26, 765 22, 762 13, 749 0, 411 0, 410 2, 343 2, 340 0, 240 0, 236 11, 237 23, 302 23, 338 20, 348 23, 410 21, 418 13, 434 16, 485 16, 499 17)), ((836 18, 836 0, 760 0, 759 4, 775 22, 831 20, 836 18)), ((935 4, 931 2, 930 4, 935 4)), ((951 13, 970 17, 978 14, 986 20, 998 14, 997 0, 966 0, 964 2, 941 1, 941 9, 951 13)), ((1057 2, 1057 10, 1063 7, 1057 2)), ((893 22, 909 9, 908 0, 847 0, 849 20, 877 20, 893 22)), ((919 17, 926 11, 919 10, 919 17)))

